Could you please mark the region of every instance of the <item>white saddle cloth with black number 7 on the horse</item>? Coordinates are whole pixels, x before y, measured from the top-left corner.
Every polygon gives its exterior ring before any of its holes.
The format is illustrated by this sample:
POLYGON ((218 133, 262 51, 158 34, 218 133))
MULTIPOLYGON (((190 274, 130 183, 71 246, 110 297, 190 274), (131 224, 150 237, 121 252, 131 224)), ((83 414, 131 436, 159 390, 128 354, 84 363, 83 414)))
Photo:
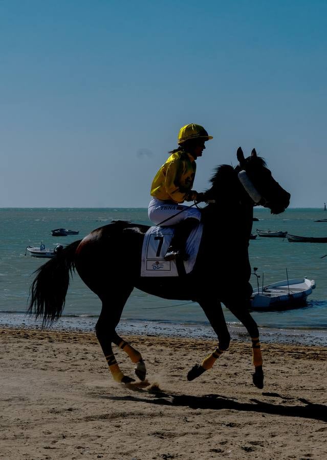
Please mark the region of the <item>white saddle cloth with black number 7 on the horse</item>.
MULTIPOLYGON (((189 273, 197 260, 202 237, 203 225, 193 228, 186 242, 189 259, 184 261, 185 272, 189 273)), ((150 227, 144 236, 141 260, 141 277, 178 277, 179 271, 175 260, 164 260, 170 245, 174 227, 150 227)))

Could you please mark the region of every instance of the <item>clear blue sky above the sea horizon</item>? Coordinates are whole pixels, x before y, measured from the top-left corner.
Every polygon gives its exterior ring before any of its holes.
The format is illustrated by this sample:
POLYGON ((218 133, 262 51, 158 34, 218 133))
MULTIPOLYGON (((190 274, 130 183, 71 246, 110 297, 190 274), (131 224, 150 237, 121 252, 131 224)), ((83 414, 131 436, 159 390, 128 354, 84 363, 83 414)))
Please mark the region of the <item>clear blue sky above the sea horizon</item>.
POLYGON ((147 207, 181 126, 194 189, 253 147, 327 201, 326 0, 0 0, 0 207, 147 207))

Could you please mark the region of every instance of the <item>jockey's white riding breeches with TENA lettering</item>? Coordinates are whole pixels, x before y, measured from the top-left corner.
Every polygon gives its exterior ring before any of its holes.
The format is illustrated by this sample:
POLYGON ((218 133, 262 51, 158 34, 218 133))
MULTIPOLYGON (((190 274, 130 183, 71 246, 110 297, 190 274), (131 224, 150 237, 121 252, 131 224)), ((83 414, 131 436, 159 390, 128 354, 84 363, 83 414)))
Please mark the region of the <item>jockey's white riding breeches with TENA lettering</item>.
POLYGON ((176 204, 172 201, 163 201, 152 198, 148 206, 148 216, 155 225, 176 225, 182 220, 192 217, 201 220, 201 211, 185 204, 176 204), (166 220, 167 219, 167 220, 166 220))

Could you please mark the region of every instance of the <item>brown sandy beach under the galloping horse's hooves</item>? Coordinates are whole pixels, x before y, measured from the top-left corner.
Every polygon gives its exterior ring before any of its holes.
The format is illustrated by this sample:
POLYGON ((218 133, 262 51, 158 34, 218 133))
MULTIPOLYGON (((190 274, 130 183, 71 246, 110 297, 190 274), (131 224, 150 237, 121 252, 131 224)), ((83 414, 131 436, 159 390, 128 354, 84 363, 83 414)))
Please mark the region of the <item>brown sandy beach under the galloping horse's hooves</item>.
MULTIPOLYGON (((93 332, 0 329, 0 457, 5 459, 316 459, 327 457, 325 347, 232 340, 213 369, 186 374, 211 339, 124 336, 148 385, 113 381, 93 332)), ((114 348, 121 370, 133 363, 114 348)))

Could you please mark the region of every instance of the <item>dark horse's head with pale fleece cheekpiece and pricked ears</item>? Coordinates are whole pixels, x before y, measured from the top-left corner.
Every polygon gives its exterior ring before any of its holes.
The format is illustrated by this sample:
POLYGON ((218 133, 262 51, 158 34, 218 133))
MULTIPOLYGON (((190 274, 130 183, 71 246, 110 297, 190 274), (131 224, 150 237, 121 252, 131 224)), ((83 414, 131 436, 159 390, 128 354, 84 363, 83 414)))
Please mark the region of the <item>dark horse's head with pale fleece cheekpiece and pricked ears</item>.
POLYGON ((241 147, 237 149, 237 159, 239 166, 235 170, 253 202, 269 208, 271 214, 284 212, 291 195, 272 177, 265 160, 257 156, 255 149, 245 158, 241 147))

